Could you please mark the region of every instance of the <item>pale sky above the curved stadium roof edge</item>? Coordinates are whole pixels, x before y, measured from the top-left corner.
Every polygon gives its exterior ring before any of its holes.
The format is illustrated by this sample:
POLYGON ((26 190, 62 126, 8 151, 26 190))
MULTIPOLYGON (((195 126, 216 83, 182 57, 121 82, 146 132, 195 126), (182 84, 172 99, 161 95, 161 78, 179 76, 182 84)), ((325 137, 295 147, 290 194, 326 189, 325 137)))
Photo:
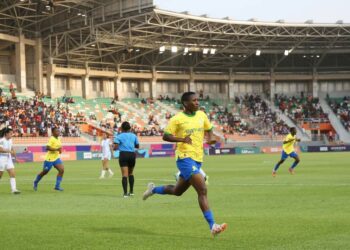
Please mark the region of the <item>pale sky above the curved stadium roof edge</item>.
POLYGON ((233 20, 350 23, 350 0, 154 0, 158 8, 233 20))

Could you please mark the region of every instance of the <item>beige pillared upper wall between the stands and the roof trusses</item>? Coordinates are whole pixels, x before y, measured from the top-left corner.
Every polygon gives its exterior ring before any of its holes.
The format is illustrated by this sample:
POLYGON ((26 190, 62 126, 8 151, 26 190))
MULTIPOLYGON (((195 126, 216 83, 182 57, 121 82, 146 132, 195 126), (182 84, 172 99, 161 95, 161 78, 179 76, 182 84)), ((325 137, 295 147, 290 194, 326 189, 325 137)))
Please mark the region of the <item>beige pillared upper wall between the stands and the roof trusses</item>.
MULTIPOLYGON (((350 73, 329 72, 315 76, 313 73, 165 73, 151 71, 103 71, 91 68, 65 68, 51 65, 44 70, 44 89, 51 97, 83 96, 85 98, 114 97, 157 98, 159 95, 179 97, 179 93, 203 90, 204 96, 212 99, 229 99, 249 93, 288 96, 313 95, 314 97, 344 96, 350 93, 350 73), (48 88, 48 79, 53 75, 53 88, 48 88), (86 85, 86 87, 85 87, 86 85), (49 91, 54 89, 54 91, 49 91)), ((44 91, 45 92, 45 91, 44 91)))

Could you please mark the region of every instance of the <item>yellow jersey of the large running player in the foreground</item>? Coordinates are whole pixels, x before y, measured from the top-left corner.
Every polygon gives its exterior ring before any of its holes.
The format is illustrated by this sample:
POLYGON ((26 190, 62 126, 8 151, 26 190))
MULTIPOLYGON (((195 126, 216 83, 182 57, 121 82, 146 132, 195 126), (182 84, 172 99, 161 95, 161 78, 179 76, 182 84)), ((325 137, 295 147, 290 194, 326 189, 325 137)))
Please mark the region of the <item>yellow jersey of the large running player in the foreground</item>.
POLYGON ((164 133, 178 138, 190 135, 192 144, 183 142, 176 144, 176 158, 192 158, 202 162, 204 132, 212 129, 213 125, 203 111, 197 111, 194 115, 181 112, 170 119, 164 133))

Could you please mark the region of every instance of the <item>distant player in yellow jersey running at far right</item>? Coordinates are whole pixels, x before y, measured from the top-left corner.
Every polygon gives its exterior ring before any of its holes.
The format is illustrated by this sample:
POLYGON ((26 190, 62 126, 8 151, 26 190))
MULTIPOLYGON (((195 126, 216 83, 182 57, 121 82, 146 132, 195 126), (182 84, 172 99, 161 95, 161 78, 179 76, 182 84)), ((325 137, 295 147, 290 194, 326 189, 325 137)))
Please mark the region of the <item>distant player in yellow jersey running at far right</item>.
POLYGON ((272 170, 273 177, 276 176, 276 172, 278 168, 288 157, 292 157, 295 160, 292 166, 288 169, 289 173, 291 174, 294 174, 294 168, 300 162, 298 154, 294 151, 294 144, 300 141, 300 139, 296 137, 297 130, 295 127, 292 127, 290 128, 289 131, 290 133, 286 136, 286 138, 284 138, 284 141, 283 141, 283 146, 282 146, 283 150, 282 150, 281 160, 276 164, 276 166, 272 170))

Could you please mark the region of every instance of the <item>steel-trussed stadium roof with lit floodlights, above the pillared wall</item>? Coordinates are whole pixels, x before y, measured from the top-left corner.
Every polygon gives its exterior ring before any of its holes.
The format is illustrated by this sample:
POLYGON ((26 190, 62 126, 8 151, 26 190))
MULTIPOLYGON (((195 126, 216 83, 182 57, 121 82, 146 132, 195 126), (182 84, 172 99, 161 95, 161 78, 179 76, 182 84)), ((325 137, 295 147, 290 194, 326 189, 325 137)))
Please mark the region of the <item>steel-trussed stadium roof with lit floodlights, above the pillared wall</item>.
POLYGON ((203 71, 350 69, 350 24, 213 19, 160 10, 151 0, 11 2, 0 3, 0 33, 41 37, 45 61, 56 64, 203 71))

